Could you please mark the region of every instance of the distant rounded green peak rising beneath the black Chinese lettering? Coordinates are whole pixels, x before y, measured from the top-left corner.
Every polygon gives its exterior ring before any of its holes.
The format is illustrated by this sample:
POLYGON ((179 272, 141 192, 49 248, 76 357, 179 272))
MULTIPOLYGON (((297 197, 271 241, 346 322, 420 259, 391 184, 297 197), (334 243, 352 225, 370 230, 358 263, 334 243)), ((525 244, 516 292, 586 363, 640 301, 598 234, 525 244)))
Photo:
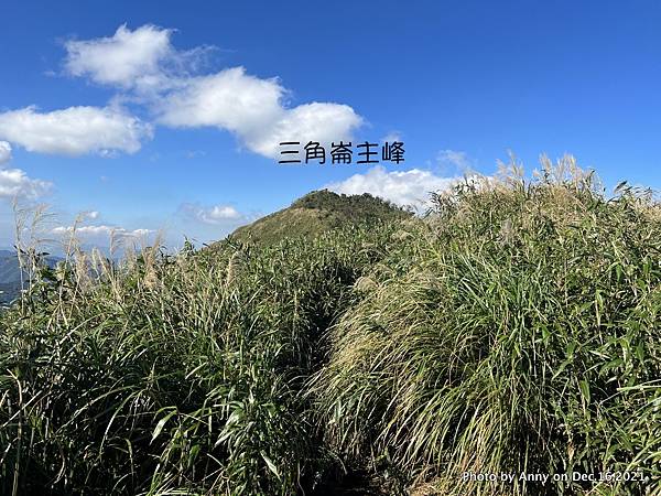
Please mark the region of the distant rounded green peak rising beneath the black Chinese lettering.
POLYGON ((239 227, 232 236, 238 240, 272 245, 288 237, 314 237, 347 226, 376 225, 410 216, 407 211, 367 193, 338 195, 323 190, 308 193, 288 208, 239 227))

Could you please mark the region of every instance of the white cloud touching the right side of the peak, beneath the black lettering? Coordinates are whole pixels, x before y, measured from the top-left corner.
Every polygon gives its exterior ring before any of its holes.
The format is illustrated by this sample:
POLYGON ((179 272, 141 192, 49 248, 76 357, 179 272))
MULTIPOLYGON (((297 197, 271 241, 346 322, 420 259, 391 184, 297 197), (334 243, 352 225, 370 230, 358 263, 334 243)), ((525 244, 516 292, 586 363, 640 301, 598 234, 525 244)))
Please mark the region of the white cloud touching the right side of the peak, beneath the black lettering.
POLYGON ((420 169, 388 172, 377 165, 365 174, 354 174, 326 187, 347 195, 370 193, 398 205, 424 209, 429 207, 431 192, 446 190, 456 181, 456 177, 441 177, 420 169))

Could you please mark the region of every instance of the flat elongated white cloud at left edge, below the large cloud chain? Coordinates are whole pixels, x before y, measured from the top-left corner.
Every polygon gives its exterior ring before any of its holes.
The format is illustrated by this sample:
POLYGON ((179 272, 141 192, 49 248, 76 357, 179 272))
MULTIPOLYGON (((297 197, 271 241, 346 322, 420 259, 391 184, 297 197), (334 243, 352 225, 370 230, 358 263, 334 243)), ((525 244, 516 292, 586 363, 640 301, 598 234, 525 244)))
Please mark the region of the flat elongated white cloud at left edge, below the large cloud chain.
POLYGON ((44 114, 26 107, 0 114, 0 138, 40 153, 134 153, 141 140, 152 134, 150 125, 110 107, 69 107, 44 114))

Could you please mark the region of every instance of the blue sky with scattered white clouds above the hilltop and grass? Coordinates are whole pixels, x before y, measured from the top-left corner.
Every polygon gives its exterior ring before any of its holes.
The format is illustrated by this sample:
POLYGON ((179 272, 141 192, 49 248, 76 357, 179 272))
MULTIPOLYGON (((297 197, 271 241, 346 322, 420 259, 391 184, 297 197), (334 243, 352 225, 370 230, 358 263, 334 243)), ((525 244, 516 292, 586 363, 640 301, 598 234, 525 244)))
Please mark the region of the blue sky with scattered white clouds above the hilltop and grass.
POLYGON ((422 208, 510 151, 658 190, 660 24, 652 0, 4 0, 0 248, 14 203, 46 238, 176 248, 323 187, 422 208), (353 163, 279 164, 340 140, 353 163), (366 141, 403 162, 356 163, 366 141))

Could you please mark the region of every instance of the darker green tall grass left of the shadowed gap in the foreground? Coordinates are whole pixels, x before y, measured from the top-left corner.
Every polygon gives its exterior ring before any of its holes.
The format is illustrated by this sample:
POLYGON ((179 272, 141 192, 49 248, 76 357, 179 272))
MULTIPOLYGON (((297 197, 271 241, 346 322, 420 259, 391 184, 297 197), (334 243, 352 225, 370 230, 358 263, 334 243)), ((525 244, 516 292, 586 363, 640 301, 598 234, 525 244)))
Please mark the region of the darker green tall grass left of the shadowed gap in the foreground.
POLYGON ((325 455, 297 392, 379 236, 147 249, 87 260, 86 284, 44 269, 0 324, 0 493, 314 485, 325 455))

